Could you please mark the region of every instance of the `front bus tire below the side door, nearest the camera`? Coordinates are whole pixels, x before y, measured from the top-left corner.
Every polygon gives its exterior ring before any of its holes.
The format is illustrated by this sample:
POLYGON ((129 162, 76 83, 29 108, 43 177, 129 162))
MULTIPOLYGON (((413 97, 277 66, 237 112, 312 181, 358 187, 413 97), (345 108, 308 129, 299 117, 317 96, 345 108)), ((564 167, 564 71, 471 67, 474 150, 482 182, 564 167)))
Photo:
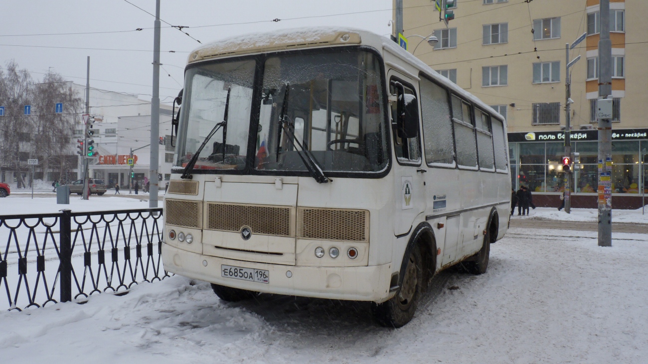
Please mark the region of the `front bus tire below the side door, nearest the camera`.
POLYGON ((399 328, 414 317, 424 288, 421 249, 418 245, 411 249, 404 275, 402 286, 394 297, 371 304, 371 312, 382 326, 399 328))

